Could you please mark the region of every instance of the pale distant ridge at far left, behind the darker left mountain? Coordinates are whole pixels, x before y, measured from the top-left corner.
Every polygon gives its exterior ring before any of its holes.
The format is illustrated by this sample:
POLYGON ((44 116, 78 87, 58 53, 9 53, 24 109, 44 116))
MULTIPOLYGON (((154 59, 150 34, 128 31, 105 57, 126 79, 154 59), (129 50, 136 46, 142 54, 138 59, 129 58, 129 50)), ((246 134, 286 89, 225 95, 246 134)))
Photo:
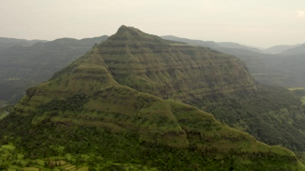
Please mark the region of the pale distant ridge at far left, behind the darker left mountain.
POLYGON ((26 40, 0 37, 0 51, 14 46, 31 46, 37 42, 47 42, 47 40, 26 40))

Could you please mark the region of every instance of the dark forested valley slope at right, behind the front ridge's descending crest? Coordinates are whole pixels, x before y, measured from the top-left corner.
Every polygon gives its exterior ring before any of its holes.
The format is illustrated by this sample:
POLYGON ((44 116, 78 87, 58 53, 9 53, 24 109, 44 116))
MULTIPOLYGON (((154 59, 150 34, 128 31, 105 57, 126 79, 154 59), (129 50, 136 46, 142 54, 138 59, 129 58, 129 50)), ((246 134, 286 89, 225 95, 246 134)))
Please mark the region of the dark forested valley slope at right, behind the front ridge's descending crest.
POLYGON ((259 85, 254 95, 221 98, 203 109, 221 122, 245 130, 267 144, 305 150, 302 133, 305 110, 299 97, 285 88, 259 85))

